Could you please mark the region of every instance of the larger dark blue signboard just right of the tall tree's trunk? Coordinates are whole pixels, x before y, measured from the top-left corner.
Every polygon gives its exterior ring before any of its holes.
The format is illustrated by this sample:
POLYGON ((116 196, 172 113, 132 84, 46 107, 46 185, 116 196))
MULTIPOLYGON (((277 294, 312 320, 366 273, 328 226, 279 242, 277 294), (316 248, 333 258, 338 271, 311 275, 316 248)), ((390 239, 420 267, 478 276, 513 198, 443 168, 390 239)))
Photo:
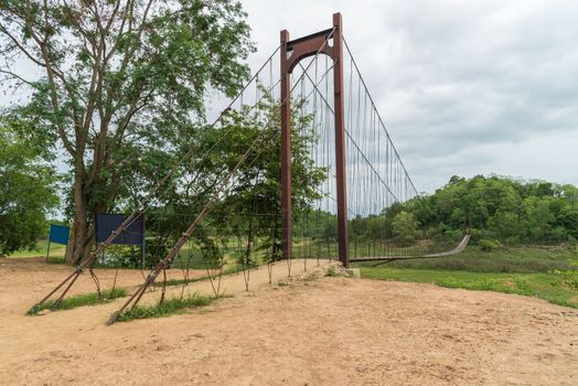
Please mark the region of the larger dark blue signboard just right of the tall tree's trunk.
MULTIPOLYGON (((110 234, 125 221, 125 215, 114 213, 97 213, 95 218, 96 243, 104 243, 110 234)), ((139 216, 111 244, 144 245, 144 216, 139 216)))

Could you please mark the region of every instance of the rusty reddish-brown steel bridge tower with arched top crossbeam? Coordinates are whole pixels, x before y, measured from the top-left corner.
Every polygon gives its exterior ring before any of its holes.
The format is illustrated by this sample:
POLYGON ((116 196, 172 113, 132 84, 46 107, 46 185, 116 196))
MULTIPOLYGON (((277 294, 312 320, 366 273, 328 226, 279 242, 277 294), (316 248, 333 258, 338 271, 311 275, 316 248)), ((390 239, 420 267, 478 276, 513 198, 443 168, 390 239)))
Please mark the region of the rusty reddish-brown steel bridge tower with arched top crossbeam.
POLYGON ((345 128, 343 96, 343 23, 341 13, 333 14, 333 26, 303 37, 290 40, 281 31, 281 218, 282 257, 291 258, 291 73, 297 64, 323 53, 333 60, 333 104, 335 111, 335 173, 338 201, 339 259, 347 267, 347 195, 345 178, 345 128), (329 43, 332 44, 329 44, 329 43))

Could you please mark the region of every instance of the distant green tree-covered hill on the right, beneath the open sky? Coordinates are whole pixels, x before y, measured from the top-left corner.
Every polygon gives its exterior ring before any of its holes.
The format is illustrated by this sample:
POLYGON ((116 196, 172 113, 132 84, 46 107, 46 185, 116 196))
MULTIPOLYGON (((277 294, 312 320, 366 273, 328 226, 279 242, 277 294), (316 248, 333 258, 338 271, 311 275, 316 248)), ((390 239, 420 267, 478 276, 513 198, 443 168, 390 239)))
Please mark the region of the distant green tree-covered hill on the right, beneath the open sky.
POLYGON ((504 176, 452 176, 431 195, 385 211, 409 213, 429 237, 456 237, 506 245, 554 244, 578 239, 578 187, 504 176))

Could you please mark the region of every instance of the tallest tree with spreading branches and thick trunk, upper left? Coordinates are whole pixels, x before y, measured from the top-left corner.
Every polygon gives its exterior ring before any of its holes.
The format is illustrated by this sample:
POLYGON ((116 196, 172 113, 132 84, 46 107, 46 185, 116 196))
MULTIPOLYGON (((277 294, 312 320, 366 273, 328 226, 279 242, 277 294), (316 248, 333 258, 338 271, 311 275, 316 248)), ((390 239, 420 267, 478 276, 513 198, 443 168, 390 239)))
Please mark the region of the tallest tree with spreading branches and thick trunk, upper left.
POLYGON ((4 86, 32 90, 11 112, 71 165, 68 262, 86 256, 95 212, 138 200, 195 138, 207 90, 234 95, 248 76, 245 18, 225 0, 0 1, 4 86))

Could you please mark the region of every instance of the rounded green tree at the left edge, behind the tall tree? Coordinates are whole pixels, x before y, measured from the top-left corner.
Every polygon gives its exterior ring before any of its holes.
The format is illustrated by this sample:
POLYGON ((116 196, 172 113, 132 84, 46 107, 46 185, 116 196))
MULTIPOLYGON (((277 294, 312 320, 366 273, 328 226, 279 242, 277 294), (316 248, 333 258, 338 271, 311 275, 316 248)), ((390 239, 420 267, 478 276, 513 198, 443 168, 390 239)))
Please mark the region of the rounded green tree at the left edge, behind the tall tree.
POLYGON ((0 129, 0 256, 34 247, 57 204, 54 175, 33 148, 0 129))

